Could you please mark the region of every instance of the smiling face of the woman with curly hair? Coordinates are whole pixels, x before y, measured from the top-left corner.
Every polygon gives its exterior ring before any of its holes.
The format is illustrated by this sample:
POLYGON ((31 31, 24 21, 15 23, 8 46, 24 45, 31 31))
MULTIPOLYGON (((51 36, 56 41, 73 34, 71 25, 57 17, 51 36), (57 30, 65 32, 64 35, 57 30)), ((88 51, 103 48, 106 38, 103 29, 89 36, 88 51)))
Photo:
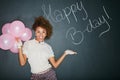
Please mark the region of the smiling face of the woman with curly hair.
POLYGON ((43 42, 45 40, 46 35, 47 35, 46 29, 44 29, 40 26, 36 28, 35 36, 36 36, 36 40, 38 42, 43 42))

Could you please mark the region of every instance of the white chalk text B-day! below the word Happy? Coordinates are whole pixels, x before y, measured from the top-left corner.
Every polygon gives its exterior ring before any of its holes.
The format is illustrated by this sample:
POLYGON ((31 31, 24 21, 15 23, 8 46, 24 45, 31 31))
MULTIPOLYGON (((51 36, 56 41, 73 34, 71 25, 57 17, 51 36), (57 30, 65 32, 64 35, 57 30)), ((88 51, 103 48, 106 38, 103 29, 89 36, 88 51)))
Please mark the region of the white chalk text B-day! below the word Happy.
MULTIPOLYGON (((107 13, 107 11, 106 11, 106 9, 105 9, 104 6, 103 6, 103 11, 104 11, 106 17, 107 17, 108 19, 111 19, 111 18, 109 17, 109 15, 108 15, 108 13, 107 13)), ((87 24, 85 30, 83 30, 83 31, 76 31, 76 29, 75 29, 74 27, 69 28, 69 29, 67 30, 67 32, 66 32, 66 38, 68 39, 68 36, 70 35, 70 36, 71 36, 71 39, 72 39, 72 43, 73 43, 74 45, 79 45, 79 44, 81 44, 81 43, 83 42, 83 40, 84 40, 84 33, 85 33, 85 32, 90 33, 90 32, 92 32, 94 29, 97 29, 98 27, 101 27, 101 25, 103 25, 103 24, 106 24, 106 25, 107 25, 107 29, 104 30, 104 31, 102 31, 102 32, 99 34, 99 37, 101 37, 103 34, 107 33, 107 32, 110 30, 110 25, 109 25, 107 19, 106 19, 103 15, 102 15, 101 17, 98 17, 98 19, 93 19, 93 20, 92 20, 92 19, 88 19, 88 24, 87 24), (74 33, 71 33, 71 30, 73 30, 74 33), (77 33, 80 33, 79 36, 82 36, 82 37, 79 39, 79 41, 75 42, 74 36, 75 36, 77 33)), ((79 37, 79 36, 78 36, 78 37, 79 37)), ((70 37, 69 37, 69 39, 70 39, 70 37)))

